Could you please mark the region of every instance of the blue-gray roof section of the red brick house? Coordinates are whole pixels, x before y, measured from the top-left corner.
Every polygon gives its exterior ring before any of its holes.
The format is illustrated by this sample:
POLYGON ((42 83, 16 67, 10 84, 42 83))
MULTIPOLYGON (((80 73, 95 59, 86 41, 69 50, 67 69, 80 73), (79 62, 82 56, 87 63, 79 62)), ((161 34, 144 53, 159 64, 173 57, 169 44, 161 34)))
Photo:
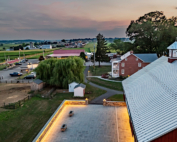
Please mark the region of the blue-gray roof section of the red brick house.
POLYGON ((141 59, 143 62, 151 63, 154 62, 156 59, 158 59, 156 53, 149 53, 149 54, 134 54, 136 57, 141 59))

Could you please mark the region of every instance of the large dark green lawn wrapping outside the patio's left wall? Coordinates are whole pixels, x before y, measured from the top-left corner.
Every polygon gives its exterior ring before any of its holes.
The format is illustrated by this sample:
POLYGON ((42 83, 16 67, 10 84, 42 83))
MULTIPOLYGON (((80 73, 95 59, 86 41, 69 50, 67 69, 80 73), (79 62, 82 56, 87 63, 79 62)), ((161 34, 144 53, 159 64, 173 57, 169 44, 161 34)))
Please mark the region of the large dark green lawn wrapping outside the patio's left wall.
MULTIPOLYGON (((85 95, 89 100, 106 92, 89 84, 87 91, 92 92, 85 95)), ((31 142, 64 99, 78 98, 73 98, 73 93, 57 93, 53 99, 33 97, 21 108, 1 112, 0 141, 31 142)))

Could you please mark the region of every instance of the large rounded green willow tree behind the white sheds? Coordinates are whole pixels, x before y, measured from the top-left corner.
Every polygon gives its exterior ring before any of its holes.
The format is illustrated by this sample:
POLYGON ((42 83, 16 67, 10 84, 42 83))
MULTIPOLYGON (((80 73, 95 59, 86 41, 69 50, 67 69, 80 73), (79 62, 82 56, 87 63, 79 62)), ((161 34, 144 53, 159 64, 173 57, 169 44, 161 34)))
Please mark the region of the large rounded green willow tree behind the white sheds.
POLYGON ((68 88, 68 84, 75 81, 84 81, 84 61, 80 57, 68 57, 66 59, 48 59, 42 61, 36 68, 37 78, 47 84, 59 88, 68 88))

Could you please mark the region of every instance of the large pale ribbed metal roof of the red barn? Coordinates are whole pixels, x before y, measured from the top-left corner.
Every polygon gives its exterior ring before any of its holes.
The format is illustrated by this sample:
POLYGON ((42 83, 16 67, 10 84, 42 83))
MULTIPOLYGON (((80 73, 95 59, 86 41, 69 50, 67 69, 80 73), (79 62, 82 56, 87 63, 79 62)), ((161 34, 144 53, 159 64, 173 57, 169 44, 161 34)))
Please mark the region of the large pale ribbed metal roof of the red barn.
POLYGON ((177 128, 176 80, 177 62, 162 56, 122 82, 138 142, 177 128))

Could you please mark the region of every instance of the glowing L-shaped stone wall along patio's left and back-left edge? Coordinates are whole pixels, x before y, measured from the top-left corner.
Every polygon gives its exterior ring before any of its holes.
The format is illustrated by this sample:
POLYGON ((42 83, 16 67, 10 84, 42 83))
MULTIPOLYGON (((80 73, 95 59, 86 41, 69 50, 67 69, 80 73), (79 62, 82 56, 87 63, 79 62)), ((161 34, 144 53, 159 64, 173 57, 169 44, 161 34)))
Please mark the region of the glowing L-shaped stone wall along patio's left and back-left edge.
POLYGON ((66 105, 88 105, 88 100, 64 100, 60 106, 57 108, 57 110, 54 112, 54 114, 50 117, 50 119, 47 121, 47 123, 44 125, 44 127, 41 129, 39 134, 36 136, 36 138, 33 140, 33 142, 41 142, 47 131, 50 129, 52 124, 55 122, 56 118, 59 116, 60 112, 63 110, 63 108, 66 105))

